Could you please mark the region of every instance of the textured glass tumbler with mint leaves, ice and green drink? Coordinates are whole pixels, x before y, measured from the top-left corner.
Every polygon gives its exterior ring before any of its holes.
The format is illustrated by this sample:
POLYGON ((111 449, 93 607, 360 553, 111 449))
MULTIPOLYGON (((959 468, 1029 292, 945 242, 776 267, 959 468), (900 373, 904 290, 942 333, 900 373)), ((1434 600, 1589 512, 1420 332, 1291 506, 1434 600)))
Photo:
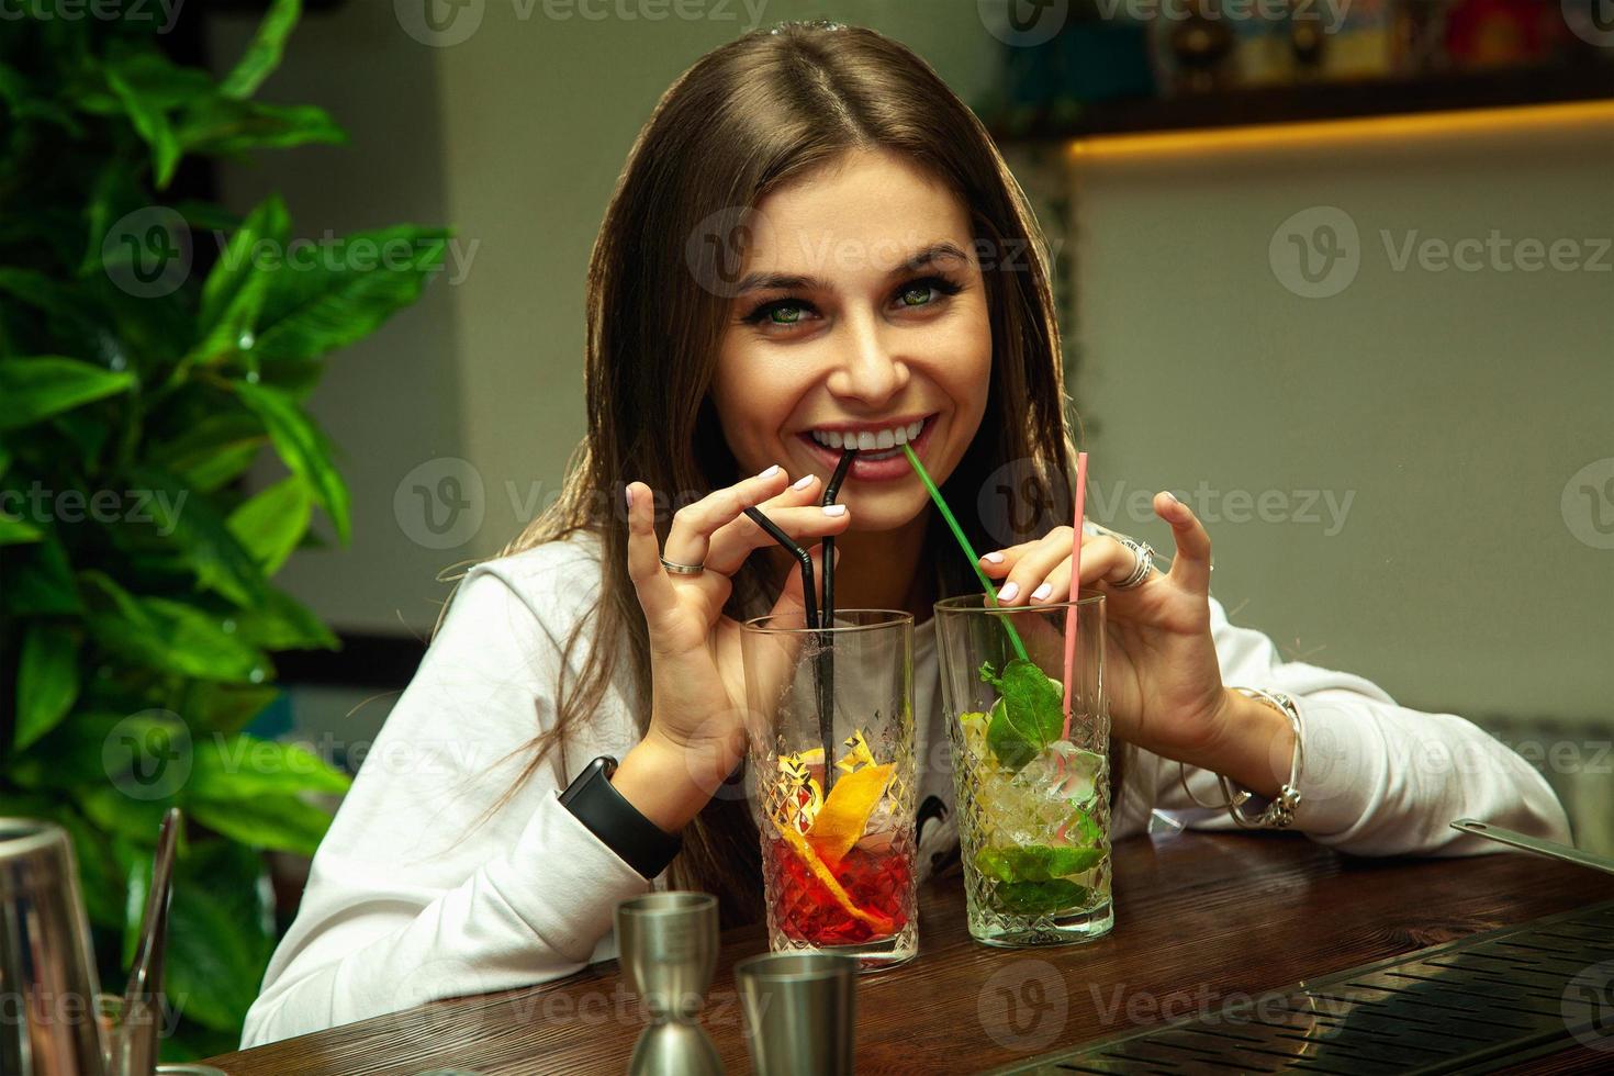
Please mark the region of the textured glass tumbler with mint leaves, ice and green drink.
POLYGON ((989 607, 972 594, 935 608, 970 936, 1018 947, 1107 934, 1115 918, 1104 595, 989 607))

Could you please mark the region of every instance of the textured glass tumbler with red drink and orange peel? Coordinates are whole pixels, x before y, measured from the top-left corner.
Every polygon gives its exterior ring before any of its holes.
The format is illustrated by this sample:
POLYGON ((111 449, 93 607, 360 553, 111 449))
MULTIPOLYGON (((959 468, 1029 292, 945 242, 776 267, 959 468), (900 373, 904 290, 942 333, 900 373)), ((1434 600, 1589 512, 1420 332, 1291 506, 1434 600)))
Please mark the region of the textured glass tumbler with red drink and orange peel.
POLYGON ((838 610, 742 624, 749 766, 773 952, 918 952, 914 616, 838 610))

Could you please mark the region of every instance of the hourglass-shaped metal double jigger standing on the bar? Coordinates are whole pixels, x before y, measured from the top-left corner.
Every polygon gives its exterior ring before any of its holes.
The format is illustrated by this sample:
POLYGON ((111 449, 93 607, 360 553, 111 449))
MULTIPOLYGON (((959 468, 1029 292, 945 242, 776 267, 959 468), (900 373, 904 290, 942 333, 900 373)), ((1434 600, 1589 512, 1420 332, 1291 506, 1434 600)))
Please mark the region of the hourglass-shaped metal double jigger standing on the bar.
POLYGON ((617 952, 628 989, 650 1010, 629 1076, 720 1076, 723 1061, 696 1020, 717 970, 717 897, 662 892, 623 900, 617 952))

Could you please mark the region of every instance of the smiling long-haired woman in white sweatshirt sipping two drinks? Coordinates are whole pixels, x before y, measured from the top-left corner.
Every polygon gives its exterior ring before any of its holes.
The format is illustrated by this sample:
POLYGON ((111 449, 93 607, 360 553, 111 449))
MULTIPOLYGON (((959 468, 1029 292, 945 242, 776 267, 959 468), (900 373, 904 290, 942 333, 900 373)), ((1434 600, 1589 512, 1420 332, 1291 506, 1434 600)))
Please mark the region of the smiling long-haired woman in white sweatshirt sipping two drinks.
MULTIPOLYGON (((747 505, 815 557, 836 537, 841 608, 914 613, 918 794, 941 805, 922 870, 955 847, 951 774, 925 765, 944 739, 930 607, 975 589, 973 568, 901 455, 860 460, 844 508, 820 508, 839 455, 822 442, 902 437, 954 505, 976 505, 1009 468, 1047 519, 1068 519, 1039 239, 975 116, 870 31, 752 34, 667 92, 589 266, 589 432, 565 495, 445 610, 315 857, 244 1045, 568 974, 610 955, 612 908, 652 884, 718 894, 726 923, 760 915, 757 831, 725 784, 742 758, 738 621, 799 611, 802 592, 747 505), (608 792, 641 826, 638 847, 557 797, 599 755, 620 760, 608 792), (662 873, 644 845, 671 834, 662 873)), ((1293 697, 1306 747, 1293 824, 1317 840, 1478 852, 1448 828, 1464 815, 1566 837, 1545 781, 1467 721, 1285 663, 1231 626, 1209 597, 1206 531, 1169 494, 1154 510, 1177 544, 1169 573, 1083 536, 1080 586, 1109 594, 1127 745, 1117 839, 1154 808, 1230 826, 1186 795, 1210 800, 1215 774, 1280 794, 1294 724, 1228 686, 1293 697)), ((964 513, 976 548, 994 550, 981 566, 999 600, 1064 600, 1068 528, 994 548, 1014 515, 964 513)))

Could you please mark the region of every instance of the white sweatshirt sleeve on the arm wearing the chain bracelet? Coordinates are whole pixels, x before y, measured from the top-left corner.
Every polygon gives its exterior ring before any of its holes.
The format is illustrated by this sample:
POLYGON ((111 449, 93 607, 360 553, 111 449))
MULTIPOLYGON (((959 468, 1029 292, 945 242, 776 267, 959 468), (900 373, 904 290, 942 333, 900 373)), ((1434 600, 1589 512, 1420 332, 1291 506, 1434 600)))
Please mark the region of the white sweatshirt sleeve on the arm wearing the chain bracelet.
MULTIPOLYGON (((1301 715, 1301 803, 1294 828, 1357 855, 1470 855, 1501 850, 1451 829, 1478 818, 1551 840, 1569 840, 1569 820, 1546 779, 1509 747, 1451 713, 1396 705, 1382 687, 1351 673, 1283 661, 1272 640, 1228 623, 1210 600, 1222 682, 1265 687, 1294 699, 1301 715)), ((1288 760, 1283 760, 1288 765, 1288 760)), ((1178 765, 1159 760, 1157 805, 1202 829, 1233 829, 1227 810, 1198 808, 1178 765)), ((1215 774, 1186 768, 1204 803, 1222 803, 1215 774)))

